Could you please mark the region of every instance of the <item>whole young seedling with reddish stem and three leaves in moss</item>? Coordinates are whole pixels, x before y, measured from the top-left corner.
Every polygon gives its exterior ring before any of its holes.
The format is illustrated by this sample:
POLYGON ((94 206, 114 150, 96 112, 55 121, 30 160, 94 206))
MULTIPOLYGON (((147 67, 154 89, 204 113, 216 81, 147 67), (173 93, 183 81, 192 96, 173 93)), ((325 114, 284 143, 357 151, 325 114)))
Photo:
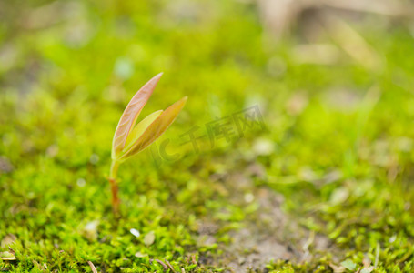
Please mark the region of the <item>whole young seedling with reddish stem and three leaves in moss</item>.
POLYGON ((162 73, 150 79, 145 86, 136 92, 119 120, 112 143, 112 164, 109 173, 109 182, 112 191, 112 209, 115 216, 119 216, 119 198, 116 175, 119 165, 129 157, 135 156, 151 143, 157 140, 176 119, 178 113, 186 104, 187 96, 178 100, 167 110, 158 110, 136 124, 146 101, 157 86, 162 73))

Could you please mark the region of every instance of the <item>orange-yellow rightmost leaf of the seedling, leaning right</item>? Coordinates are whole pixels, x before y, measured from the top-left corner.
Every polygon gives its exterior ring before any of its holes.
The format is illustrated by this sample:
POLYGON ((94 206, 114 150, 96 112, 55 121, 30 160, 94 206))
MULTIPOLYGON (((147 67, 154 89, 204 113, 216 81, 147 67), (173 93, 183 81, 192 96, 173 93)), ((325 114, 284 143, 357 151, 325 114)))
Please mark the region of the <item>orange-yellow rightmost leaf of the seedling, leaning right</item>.
POLYGON ((132 157, 156 141, 157 138, 167 130, 168 126, 174 122, 186 102, 187 96, 178 100, 174 105, 169 106, 167 110, 146 128, 145 132, 138 138, 133 146, 120 157, 120 159, 125 160, 127 157, 132 157))

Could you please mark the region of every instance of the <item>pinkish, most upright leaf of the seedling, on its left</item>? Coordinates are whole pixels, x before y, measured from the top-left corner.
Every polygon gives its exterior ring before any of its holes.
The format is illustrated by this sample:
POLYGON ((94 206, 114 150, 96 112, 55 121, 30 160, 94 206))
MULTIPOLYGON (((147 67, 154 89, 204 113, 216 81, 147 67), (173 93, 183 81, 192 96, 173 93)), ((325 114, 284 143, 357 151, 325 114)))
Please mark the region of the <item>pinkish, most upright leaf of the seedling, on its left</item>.
POLYGON ((146 101, 149 96, 151 96, 161 76, 162 73, 150 79, 145 86, 142 86, 141 89, 136 92, 136 95, 132 97, 131 101, 126 106, 118 126, 116 126, 114 140, 112 142, 112 158, 116 159, 126 146, 126 138, 136 124, 136 119, 138 118, 139 113, 141 113, 142 108, 146 105, 146 101))

